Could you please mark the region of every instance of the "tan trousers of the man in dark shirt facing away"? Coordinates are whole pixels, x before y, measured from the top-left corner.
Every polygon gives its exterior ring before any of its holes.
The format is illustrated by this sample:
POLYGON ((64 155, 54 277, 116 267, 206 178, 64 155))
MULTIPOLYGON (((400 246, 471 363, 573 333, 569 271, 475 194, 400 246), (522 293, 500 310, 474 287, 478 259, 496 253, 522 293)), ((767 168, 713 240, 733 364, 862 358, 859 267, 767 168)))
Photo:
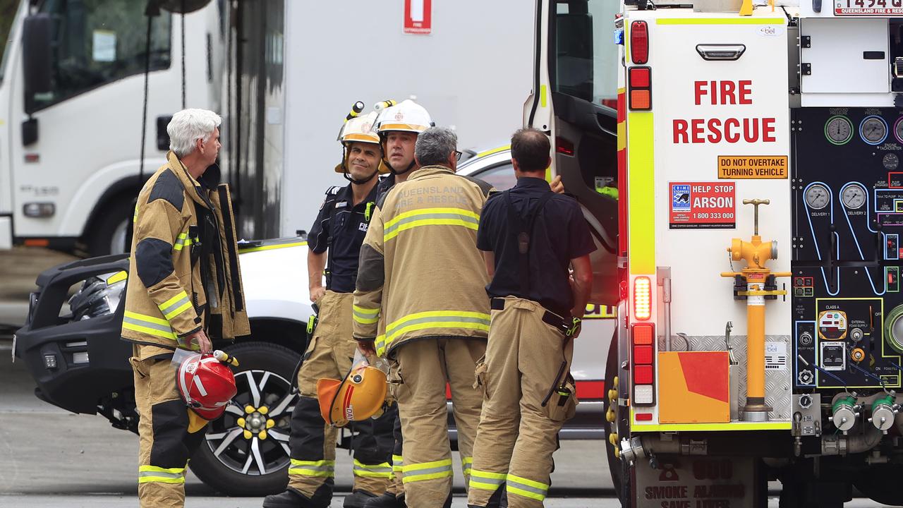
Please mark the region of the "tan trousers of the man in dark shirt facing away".
POLYGON ((557 389, 569 377, 573 342, 565 346, 562 332, 547 325, 544 314, 539 304, 514 296, 505 298, 504 310, 492 311, 486 369, 478 369, 486 396, 474 444, 470 506, 497 506, 503 484, 510 508, 543 506, 558 430, 573 417, 576 404, 573 382, 570 394, 557 389), (567 366, 556 380, 562 362, 567 366))

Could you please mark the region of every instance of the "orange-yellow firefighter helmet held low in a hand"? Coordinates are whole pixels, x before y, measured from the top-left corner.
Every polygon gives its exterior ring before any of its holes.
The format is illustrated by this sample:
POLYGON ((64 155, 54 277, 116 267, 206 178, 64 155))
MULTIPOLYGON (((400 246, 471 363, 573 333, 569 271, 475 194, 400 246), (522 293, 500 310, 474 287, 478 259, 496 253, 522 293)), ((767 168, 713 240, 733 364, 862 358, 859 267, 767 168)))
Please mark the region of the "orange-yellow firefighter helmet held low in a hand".
POLYGON ((344 427, 349 421, 368 419, 386 402, 386 372, 366 363, 351 368, 342 381, 317 380, 320 414, 330 425, 344 427))

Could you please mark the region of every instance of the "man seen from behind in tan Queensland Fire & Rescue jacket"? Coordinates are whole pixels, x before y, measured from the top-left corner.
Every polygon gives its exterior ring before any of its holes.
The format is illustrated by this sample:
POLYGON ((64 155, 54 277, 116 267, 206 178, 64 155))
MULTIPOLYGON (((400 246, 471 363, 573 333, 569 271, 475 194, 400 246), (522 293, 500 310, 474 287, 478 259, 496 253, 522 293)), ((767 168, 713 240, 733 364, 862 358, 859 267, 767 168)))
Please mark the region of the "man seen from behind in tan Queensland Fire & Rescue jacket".
POLYGON ((397 364, 405 502, 417 508, 452 502, 446 382, 465 480, 482 402, 473 372, 486 350, 489 278, 476 229, 491 186, 454 174, 456 143, 447 128, 417 136, 420 167, 377 207, 355 291, 355 312, 378 316, 355 320, 359 347, 397 364))

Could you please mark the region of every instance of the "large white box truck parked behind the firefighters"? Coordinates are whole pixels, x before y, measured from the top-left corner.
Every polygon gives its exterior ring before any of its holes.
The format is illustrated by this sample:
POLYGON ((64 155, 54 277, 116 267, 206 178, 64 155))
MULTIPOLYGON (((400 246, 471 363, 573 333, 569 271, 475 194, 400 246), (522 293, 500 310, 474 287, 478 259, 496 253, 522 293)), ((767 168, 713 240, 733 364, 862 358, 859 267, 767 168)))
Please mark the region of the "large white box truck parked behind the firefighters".
POLYGON ((147 177, 182 95, 223 117, 222 178, 245 238, 310 226, 323 189, 343 182, 336 133, 357 100, 414 94, 464 147, 520 125, 532 32, 515 0, 433 3, 429 34, 403 32, 401 2, 190 0, 184 19, 181 5, 21 0, 0 63, 0 248, 121 252, 142 128, 147 177), (160 12, 143 122, 148 5, 160 12))

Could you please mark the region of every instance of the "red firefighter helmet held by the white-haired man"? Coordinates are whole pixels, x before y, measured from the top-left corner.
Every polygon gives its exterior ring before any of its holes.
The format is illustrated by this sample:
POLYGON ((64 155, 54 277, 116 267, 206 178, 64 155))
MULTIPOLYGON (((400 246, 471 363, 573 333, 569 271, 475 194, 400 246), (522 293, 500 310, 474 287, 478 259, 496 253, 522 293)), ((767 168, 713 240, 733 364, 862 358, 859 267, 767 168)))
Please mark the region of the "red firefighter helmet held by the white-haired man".
POLYGON ((203 419, 218 419, 237 393, 231 369, 209 353, 183 360, 175 381, 182 400, 203 419))

